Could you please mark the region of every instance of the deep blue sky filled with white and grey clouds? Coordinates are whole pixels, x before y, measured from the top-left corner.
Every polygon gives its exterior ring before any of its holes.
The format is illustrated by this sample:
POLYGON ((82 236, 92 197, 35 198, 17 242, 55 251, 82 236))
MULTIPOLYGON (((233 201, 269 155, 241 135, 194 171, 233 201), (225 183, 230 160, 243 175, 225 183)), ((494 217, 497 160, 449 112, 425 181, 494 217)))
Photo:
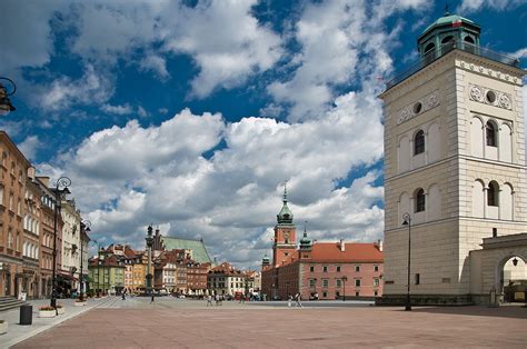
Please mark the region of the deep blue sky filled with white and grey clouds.
MULTIPOLYGON (((527 1, 449 1, 481 44, 527 58, 527 1)), ((68 176, 92 237, 146 227, 258 266, 288 180, 299 231, 382 236, 384 81, 444 1, 0 2, 0 120, 40 176, 68 176)), ((523 64, 527 68, 526 64, 523 64)))

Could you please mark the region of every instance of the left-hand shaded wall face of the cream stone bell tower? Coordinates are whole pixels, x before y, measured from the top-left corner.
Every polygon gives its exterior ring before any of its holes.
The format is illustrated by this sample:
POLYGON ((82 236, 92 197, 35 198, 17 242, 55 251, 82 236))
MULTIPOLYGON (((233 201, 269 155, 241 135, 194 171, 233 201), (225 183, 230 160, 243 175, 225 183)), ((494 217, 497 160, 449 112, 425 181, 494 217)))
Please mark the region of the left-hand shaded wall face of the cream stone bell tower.
MULTIPOLYGON (((409 212, 411 226, 412 293, 457 293, 458 278, 458 161, 457 121, 453 58, 445 57, 385 93, 385 295, 407 290, 408 228, 401 226, 409 212), (414 106, 421 109, 412 113, 414 106), (409 112, 409 114, 408 114, 409 112), (438 130, 436 149, 429 147, 431 126, 438 130), (424 130, 427 139, 424 160, 401 167, 401 139, 424 130), (430 153, 435 153, 431 158, 430 153), (438 188, 437 207, 415 213, 414 192, 422 188, 429 203, 429 189, 438 188), (409 205, 401 205, 407 193, 409 205), (419 285, 415 278, 419 275, 419 285)), ((412 144, 410 144, 411 148, 412 144)), ((411 156, 411 149, 410 153, 411 156)), ((408 152, 407 152, 408 156, 408 152)), ((412 159, 414 160, 414 157, 412 159)))

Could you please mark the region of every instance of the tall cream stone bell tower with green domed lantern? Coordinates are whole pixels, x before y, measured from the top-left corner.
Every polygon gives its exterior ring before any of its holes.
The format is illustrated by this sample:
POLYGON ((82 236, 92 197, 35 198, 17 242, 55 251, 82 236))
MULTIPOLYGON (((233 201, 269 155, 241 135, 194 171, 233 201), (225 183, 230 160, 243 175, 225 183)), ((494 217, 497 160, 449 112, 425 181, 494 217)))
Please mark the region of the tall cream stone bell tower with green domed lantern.
POLYGON ((387 303, 405 301, 408 273, 414 303, 488 297, 471 289, 469 252, 484 238, 527 231, 525 72, 481 48, 479 34, 446 13, 418 38, 419 63, 380 94, 387 303))

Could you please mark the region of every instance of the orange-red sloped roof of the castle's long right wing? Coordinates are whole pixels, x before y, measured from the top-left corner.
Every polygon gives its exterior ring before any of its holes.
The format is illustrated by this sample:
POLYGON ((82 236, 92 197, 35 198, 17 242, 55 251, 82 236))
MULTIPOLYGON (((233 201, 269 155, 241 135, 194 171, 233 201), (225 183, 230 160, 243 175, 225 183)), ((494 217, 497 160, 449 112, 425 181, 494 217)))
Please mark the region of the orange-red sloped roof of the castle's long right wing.
POLYGON ((317 262, 382 262, 384 255, 376 243, 345 242, 340 251, 339 242, 316 242, 311 260, 317 262))

